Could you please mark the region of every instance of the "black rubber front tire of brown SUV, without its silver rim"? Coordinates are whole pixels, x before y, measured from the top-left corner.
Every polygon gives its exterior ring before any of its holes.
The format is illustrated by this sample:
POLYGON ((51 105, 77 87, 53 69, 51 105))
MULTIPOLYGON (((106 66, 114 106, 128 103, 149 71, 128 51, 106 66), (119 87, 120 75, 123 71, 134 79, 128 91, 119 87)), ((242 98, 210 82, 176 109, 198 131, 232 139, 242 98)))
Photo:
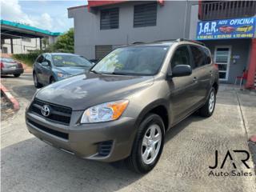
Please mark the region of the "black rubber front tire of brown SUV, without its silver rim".
POLYGON ((141 174, 146 174, 147 172, 149 172, 154 168, 154 166, 157 164, 162 154, 162 148, 164 145, 164 131, 165 131, 165 126, 164 126, 164 123, 162 122, 162 118, 157 114, 148 114, 146 118, 143 119, 140 126, 138 127, 138 133, 134 139, 134 145, 133 145, 133 149, 131 151, 130 157, 126 158, 126 164, 127 166, 130 167, 131 170, 134 170, 135 172, 138 172, 141 174), (143 159, 142 159, 142 147, 143 147, 142 140, 145 137, 146 132, 149 130, 149 127, 152 125, 157 125, 160 128, 161 130, 160 134, 161 134, 162 140, 161 142, 159 142, 161 144, 158 150, 158 154, 156 154, 157 156, 153 158, 154 161, 150 162, 149 164, 146 164, 145 162, 143 162, 143 159))

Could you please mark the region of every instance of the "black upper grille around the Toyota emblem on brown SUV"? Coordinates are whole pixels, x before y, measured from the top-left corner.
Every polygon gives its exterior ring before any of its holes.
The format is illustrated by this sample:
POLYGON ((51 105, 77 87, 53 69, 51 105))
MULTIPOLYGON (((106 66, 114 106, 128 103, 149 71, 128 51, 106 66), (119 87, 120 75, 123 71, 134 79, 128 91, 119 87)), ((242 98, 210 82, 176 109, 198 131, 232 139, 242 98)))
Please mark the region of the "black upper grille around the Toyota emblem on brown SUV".
POLYGON ((43 118, 50 119, 54 122, 69 125, 72 109, 70 107, 58 106, 49 102, 42 102, 41 100, 34 99, 30 106, 30 112, 37 114, 38 116, 41 116, 43 118), (42 106, 44 105, 50 106, 51 111, 48 117, 42 115, 42 106))

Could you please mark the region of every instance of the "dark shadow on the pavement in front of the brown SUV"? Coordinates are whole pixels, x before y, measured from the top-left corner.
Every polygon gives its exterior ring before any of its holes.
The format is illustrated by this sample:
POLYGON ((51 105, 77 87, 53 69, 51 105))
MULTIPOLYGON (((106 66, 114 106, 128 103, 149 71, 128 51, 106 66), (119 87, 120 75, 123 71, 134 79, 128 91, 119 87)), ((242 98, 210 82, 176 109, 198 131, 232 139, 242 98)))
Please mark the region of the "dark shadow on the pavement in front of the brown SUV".
POLYGON ((31 191, 114 191, 136 182, 136 174, 126 166, 94 162, 66 154, 38 138, 30 138, 2 149, 2 191, 22 182, 31 191), (6 182, 7 178, 9 179, 6 182))

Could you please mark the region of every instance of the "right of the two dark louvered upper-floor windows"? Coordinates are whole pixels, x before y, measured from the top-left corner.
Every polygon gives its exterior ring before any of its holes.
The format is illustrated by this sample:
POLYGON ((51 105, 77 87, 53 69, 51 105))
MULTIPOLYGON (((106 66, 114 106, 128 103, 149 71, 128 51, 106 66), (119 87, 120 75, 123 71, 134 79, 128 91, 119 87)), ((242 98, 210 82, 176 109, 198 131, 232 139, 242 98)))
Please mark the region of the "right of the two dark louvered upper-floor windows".
POLYGON ((157 2, 134 6, 134 27, 157 25, 157 2))

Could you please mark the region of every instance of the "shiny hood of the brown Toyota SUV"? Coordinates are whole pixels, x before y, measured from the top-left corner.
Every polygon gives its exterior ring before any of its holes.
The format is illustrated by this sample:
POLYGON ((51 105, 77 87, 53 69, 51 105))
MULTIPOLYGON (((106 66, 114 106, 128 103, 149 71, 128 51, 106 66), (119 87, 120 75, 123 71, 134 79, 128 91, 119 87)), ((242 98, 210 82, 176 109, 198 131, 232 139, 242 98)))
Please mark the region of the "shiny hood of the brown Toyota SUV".
POLYGON ((153 83, 153 76, 86 73, 42 88, 36 98, 72 110, 86 110, 89 106, 126 98, 153 83))

